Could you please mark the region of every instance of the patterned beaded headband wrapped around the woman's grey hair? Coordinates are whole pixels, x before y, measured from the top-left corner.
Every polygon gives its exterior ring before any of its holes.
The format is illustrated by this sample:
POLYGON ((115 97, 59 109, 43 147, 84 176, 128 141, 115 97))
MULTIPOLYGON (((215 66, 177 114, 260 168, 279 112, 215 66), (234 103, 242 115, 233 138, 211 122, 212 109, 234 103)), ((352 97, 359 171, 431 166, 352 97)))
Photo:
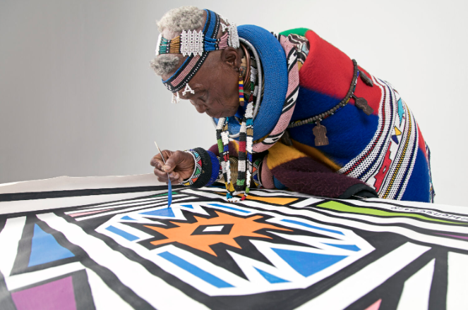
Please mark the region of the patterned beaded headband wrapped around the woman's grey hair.
MULTIPOLYGON (((195 75, 208 57, 210 51, 218 49, 226 49, 232 46, 235 49, 239 47, 239 36, 237 35, 237 27, 235 24, 229 26, 220 22, 220 16, 217 13, 206 10, 206 22, 203 30, 196 32, 195 30, 184 30, 179 37, 174 39, 165 39, 160 35, 157 40, 156 56, 162 54, 182 54, 188 56, 182 66, 176 70, 167 80, 162 80, 164 85, 171 92, 179 92, 186 87, 187 83, 193 75, 195 75), (227 33, 216 39, 218 30, 222 27, 222 32, 227 30, 227 33)), ((226 18, 222 18, 224 21, 226 18)), ((177 93, 178 95, 179 93, 177 93)))

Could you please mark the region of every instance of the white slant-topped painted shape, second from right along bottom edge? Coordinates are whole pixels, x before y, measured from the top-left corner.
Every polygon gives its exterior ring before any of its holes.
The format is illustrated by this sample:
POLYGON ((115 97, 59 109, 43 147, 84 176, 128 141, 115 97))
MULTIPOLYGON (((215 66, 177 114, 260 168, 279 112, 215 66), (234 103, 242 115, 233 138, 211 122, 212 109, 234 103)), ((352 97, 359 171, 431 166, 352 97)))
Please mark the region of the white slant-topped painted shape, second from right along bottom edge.
POLYGON ((404 282, 397 310, 428 309, 435 263, 436 259, 433 259, 404 282))

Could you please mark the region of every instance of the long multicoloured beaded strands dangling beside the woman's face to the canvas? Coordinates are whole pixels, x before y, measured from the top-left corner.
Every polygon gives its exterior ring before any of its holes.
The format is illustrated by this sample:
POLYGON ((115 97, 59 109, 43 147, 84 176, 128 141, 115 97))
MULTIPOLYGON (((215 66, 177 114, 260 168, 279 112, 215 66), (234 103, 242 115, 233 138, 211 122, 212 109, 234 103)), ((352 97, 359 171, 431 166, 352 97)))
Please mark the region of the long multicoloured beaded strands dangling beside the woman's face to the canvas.
MULTIPOLYGON (((246 57, 250 57, 246 54, 246 57)), ((259 66, 259 64, 258 64, 259 66)), ((256 87, 256 69, 250 66, 250 89, 256 87)), ((248 85, 246 85, 248 86, 248 85)), ((252 146, 253 146, 253 102, 256 101, 251 91, 248 97, 248 104, 244 118, 241 120, 241 128, 239 130, 239 157, 237 161, 237 180, 235 184, 231 182, 231 163, 229 161, 229 118, 220 118, 216 128, 216 139, 218 150, 222 156, 221 168, 224 177, 224 183, 227 189, 227 200, 229 202, 237 202, 246 199, 250 185, 252 174, 252 146), (236 194, 244 194, 240 199, 234 197, 236 194)), ((239 75, 239 103, 244 102, 244 79, 239 75)))

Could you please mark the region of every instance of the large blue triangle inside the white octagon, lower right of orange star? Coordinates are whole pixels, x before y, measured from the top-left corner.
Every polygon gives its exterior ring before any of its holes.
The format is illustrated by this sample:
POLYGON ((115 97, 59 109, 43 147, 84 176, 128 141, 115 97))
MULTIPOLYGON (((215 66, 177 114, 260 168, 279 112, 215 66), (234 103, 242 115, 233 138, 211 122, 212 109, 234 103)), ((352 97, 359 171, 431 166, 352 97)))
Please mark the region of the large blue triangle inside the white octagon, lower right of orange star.
POLYGON ((289 263, 298 273, 308 277, 318 271, 332 266, 334 263, 341 261, 347 256, 317 254, 309 252, 299 252, 289 249, 272 249, 276 254, 289 263))

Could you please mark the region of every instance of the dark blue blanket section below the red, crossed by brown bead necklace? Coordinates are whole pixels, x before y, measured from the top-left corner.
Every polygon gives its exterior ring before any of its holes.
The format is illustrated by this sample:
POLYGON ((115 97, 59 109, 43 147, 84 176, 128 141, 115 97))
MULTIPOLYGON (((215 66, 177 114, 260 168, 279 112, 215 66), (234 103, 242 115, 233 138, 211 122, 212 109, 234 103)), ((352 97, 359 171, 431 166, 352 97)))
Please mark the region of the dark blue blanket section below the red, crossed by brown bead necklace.
MULTIPOLYGON (((328 111, 339 100, 319 92, 299 87, 299 97, 292 120, 304 120, 319 113, 328 111)), ((344 166, 351 159, 358 156, 371 142, 378 126, 378 116, 367 116, 364 111, 352 104, 343 106, 334 115, 322 120, 321 125, 327 128, 330 144, 316 147, 332 161, 344 166)), ((311 147, 315 147, 313 128, 315 125, 306 124, 289 129, 293 140, 311 147)))

